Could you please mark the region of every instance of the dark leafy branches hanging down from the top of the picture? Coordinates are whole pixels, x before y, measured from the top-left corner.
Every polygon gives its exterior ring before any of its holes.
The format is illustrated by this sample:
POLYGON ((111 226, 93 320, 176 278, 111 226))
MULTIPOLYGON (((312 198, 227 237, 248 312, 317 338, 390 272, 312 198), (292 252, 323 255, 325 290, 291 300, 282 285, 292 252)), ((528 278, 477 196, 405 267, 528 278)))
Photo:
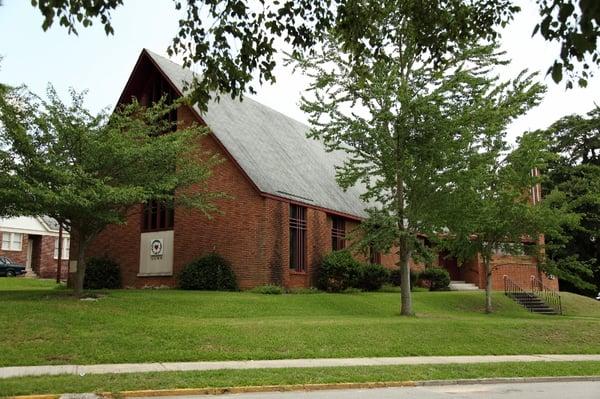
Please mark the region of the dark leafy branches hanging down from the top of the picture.
MULTIPOLYGON (((535 32, 548 41, 561 44, 560 55, 549 72, 556 82, 563 71, 579 77, 584 86, 590 76, 590 64, 600 62, 600 4, 595 0, 536 0, 541 22, 535 32), (587 58, 586 58, 587 57, 587 58), (589 58, 589 59, 588 59, 589 58), (581 65, 581 70, 575 67, 581 65), (577 73, 579 72, 579 73, 577 73)), ((114 33, 111 13, 122 6, 123 0, 93 2, 71 0, 33 0, 44 17, 42 28, 48 29, 57 21, 69 32, 77 33, 98 19, 106 34, 114 33)), ((452 50, 456 41, 476 38, 495 38, 495 29, 505 26, 520 11, 516 0, 436 0, 387 2, 402 9, 407 18, 415 21, 414 39, 428 47, 433 54, 443 55, 452 50)), ((375 48, 381 34, 391 38, 393 25, 383 25, 385 8, 382 2, 362 0, 173 0, 176 10, 185 9, 179 30, 169 52, 181 53, 186 66, 199 64, 202 80, 196 82, 195 101, 205 106, 211 93, 224 92, 241 97, 253 72, 260 81, 274 82, 276 38, 288 43, 293 51, 305 53, 322 43, 335 27, 340 45, 353 53, 360 64, 365 46, 375 48)), ((571 77, 567 81, 572 86, 571 77)))

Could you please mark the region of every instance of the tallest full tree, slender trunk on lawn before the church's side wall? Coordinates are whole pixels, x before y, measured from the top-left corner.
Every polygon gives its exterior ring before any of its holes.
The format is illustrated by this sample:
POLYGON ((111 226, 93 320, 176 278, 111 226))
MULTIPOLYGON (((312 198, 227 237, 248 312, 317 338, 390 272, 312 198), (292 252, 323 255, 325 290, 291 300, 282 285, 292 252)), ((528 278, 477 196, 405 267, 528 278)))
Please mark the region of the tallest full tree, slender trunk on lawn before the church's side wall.
MULTIPOLYGON (((456 42, 434 55, 415 40, 420 20, 406 16, 396 2, 380 2, 384 43, 356 65, 335 37, 323 51, 296 57, 311 79, 311 98, 301 107, 309 115, 310 136, 329 151, 343 150, 339 165, 343 188, 364 185, 369 211, 364 245, 397 248, 402 273, 401 314, 412 314, 409 259, 426 253, 421 234, 435 235, 456 212, 448 195, 458 178, 473 173, 482 145, 498 145, 506 125, 537 104, 543 88, 525 73, 498 83, 490 70, 504 61, 493 45, 456 42)), ((412 3, 403 3, 406 7, 412 3)), ((473 177, 471 177, 473 178, 473 177)), ((458 219, 458 218, 457 218, 458 219)))

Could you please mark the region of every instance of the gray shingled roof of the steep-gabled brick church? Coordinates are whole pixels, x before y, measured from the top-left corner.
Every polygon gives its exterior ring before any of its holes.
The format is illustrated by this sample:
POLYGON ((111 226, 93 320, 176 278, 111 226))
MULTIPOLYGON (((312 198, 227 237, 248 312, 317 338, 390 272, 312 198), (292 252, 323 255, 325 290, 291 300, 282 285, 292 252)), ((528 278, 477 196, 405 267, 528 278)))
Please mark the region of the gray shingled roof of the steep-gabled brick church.
MULTIPOLYGON (((146 51, 183 93, 194 73, 146 51)), ((221 96, 206 113, 194 108, 261 192, 365 216, 360 189, 344 192, 335 180, 335 166, 346 154, 326 152, 320 142, 306 137, 308 126, 248 97, 240 102, 221 96)))

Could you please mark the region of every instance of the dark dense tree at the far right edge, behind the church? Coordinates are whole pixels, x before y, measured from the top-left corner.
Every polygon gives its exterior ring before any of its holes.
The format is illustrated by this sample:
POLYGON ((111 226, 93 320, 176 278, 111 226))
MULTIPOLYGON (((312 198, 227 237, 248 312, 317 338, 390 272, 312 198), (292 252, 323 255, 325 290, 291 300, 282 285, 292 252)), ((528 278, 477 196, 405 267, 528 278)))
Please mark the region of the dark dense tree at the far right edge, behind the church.
POLYGON ((547 236, 548 260, 561 288, 586 295, 600 290, 600 108, 566 116, 545 131, 552 151, 544 191, 558 189, 581 216, 562 236, 547 236))

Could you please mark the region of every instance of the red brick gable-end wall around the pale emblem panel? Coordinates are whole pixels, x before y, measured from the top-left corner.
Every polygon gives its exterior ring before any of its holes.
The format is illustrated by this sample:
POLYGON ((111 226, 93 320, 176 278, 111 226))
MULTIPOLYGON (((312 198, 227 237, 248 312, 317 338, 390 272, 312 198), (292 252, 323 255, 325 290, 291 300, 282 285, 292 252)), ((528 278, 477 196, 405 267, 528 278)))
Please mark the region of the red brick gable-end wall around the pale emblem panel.
MULTIPOLYGON (((194 120, 188 108, 180 109, 178 117, 182 121, 194 120)), ((272 221, 281 210, 272 204, 274 201, 267 200, 255 190, 222 151, 214 136, 204 137, 201 147, 224 159, 213 169, 206 187, 212 192, 226 193, 229 198, 216 201, 219 212, 212 214, 212 218, 198 211, 175 210, 173 277, 137 277, 141 206, 132 211, 125 225, 105 229, 92 243, 87 255, 107 255, 119 262, 124 286, 174 286, 177 274, 186 264, 213 251, 232 263, 240 287, 249 288, 271 281, 272 264, 277 261, 269 253, 272 251, 261 250, 272 246, 269 243, 272 239, 267 239, 263 230, 267 215, 272 221), (275 214, 270 215, 271 212, 275 214)), ((72 248, 75 249, 75 245, 72 248)))

